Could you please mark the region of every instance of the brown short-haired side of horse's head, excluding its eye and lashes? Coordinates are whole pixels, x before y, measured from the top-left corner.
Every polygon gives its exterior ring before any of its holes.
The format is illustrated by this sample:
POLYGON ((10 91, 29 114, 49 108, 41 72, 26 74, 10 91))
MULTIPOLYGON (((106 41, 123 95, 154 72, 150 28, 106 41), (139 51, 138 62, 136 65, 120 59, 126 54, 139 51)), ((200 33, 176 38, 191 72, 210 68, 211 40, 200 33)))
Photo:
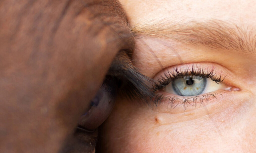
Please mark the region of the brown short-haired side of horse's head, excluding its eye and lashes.
POLYGON ((116 0, 1 4, 0 148, 57 152, 114 56, 134 46, 125 13, 116 0))

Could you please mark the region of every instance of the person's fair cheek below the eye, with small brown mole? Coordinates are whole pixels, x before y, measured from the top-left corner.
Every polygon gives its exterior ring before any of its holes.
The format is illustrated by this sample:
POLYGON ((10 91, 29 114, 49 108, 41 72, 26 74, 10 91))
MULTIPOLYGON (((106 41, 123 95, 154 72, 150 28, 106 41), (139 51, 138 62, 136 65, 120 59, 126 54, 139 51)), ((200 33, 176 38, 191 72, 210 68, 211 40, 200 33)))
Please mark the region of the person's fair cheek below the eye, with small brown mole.
MULTIPOLYGON (((253 123, 256 121, 249 119, 251 113, 244 114, 248 106, 239 108, 232 123, 225 120, 218 122, 216 116, 220 114, 171 122, 166 115, 153 111, 149 106, 119 100, 101 127, 100 143, 104 152, 249 151, 255 149, 252 144, 255 142, 253 123)), ((226 114, 226 117, 229 115, 226 114)))

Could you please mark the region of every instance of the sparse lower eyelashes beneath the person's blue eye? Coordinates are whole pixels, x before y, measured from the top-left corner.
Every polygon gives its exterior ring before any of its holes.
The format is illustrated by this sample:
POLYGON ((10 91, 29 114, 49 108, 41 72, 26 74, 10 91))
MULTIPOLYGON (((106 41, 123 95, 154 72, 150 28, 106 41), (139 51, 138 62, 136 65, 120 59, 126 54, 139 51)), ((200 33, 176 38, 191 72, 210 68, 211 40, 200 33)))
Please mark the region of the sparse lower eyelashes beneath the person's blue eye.
POLYGON ((176 97, 176 96, 166 96, 164 94, 156 94, 155 99, 153 101, 156 108, 162 102, 168 101, 168 106, 170 105, 170 108, 175 108, 178 105, 183 105, 184 111, 185 111, 189 105, 196 107, 197 104, 202 104, 204 102, 207 104, 210 99, 212 98, 217 99, 219 95, 222 96, 221 93, 213 92, 213 93, 208 93, 204 95, 183 98, 183 97, 176 97))

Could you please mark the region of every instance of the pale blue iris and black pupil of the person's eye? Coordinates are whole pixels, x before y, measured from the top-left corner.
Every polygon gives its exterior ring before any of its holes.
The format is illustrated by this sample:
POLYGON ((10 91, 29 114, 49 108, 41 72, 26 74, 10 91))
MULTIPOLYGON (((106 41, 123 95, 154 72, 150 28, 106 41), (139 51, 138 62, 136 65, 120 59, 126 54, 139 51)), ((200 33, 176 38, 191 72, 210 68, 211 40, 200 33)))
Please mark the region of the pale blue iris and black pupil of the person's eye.
POLYGON ((175 79, 173 90, 180 96, 196 96, 202 94, 206 87, 206 78, 190 75, 175 79))

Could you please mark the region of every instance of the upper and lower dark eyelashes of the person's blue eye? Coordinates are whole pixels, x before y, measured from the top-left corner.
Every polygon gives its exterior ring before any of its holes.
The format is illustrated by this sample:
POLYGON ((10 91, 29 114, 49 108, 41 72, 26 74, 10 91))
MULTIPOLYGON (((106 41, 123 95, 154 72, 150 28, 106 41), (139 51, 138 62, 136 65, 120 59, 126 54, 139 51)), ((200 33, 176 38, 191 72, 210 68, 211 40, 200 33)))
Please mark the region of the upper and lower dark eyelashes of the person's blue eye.
MULTIPOLYGON (((216 73, 214 73, 214 70, 211 70, 209 72, 205 72, 202 68, 200 67, 196 67, 194 68, 194 66, 192 66, 191 69, 186 68, 185 70, 179 70, 177 67, 174 68, 173 71, 168 71, 167 73, 164 74, 163 76, 160 76, 160 78, 155 82, 155 85, 153 87, 154 91, 157 92, 158 90, 163 89, 166 85, 168 85, 170 82, 174 81, 175 79, 178 78, 183 78, 185 76, 189 76, 189 75, 195 75, 195 76, 199 76, 199 77, 204 77, 204 78, 210 78, 212 81, 215 81, 218 84, 223 84, 223 80, 225 79, 225 77, 221 76, 221 73, 219 75, 219 77, 216 75, 216 73)), ((221 95, 221 93, 207 93, 204 95, 198 95, 198 96, 194 96, 194 97, 189 97, 189 98, 181 98, 181 97, 176 97, 176 96, 165 96, 164 94, 160 94, 157 93, 155 94, 155 98, 154 98, 154 105, 157 107, 159 104, 161 104, 161 102, 164 101, 168 101, 168 103, 171 105, 171 108, 175 108, 177 105, 179 104, 183 104, 184 106, 184 111, 186 110, 186 108, 191 105, 191 106, 196 106, 196 104, 198 103, 198 100, 200 100, 200 103, 202 104, 204 101, 206 103, 208 103, 210 98, 217 98, 218 95, 221 95), (179 103, 175 102, 179 101, 179 103)))

